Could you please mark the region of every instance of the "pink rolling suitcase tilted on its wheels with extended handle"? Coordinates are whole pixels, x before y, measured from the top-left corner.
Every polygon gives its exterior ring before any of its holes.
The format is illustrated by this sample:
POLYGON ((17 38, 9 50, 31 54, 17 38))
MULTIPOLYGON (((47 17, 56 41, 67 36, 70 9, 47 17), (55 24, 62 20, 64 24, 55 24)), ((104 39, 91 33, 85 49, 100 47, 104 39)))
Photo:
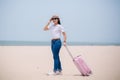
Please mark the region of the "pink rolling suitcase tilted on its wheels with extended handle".
POLYGON ((69 55, 73 59, 74 64, 76 65, 76 67, 78 68, 78 70, 81 72, 82 76, 89 76, 90 74, 92 74, 91 69, 87 66, 87 64, 81 58, 81 56, 73 57, 72 54, 71 54, 71 52, 67 48, 67 46, 65 46, 65 48, 67 49, 69 55))

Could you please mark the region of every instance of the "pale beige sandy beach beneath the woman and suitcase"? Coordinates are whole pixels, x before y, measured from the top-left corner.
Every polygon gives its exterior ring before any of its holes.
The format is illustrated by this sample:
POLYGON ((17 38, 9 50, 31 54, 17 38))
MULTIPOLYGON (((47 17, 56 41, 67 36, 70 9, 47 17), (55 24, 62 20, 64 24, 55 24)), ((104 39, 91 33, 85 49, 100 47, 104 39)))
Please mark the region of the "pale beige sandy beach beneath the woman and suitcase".
POLYGON ((0 80, 120 80, 120 46, 69 46, 92 69, 89 77, 80 76, 65 48, 61 49, 63 75, 47 76, 52 71, 50 46, 0 46, 0 80))

